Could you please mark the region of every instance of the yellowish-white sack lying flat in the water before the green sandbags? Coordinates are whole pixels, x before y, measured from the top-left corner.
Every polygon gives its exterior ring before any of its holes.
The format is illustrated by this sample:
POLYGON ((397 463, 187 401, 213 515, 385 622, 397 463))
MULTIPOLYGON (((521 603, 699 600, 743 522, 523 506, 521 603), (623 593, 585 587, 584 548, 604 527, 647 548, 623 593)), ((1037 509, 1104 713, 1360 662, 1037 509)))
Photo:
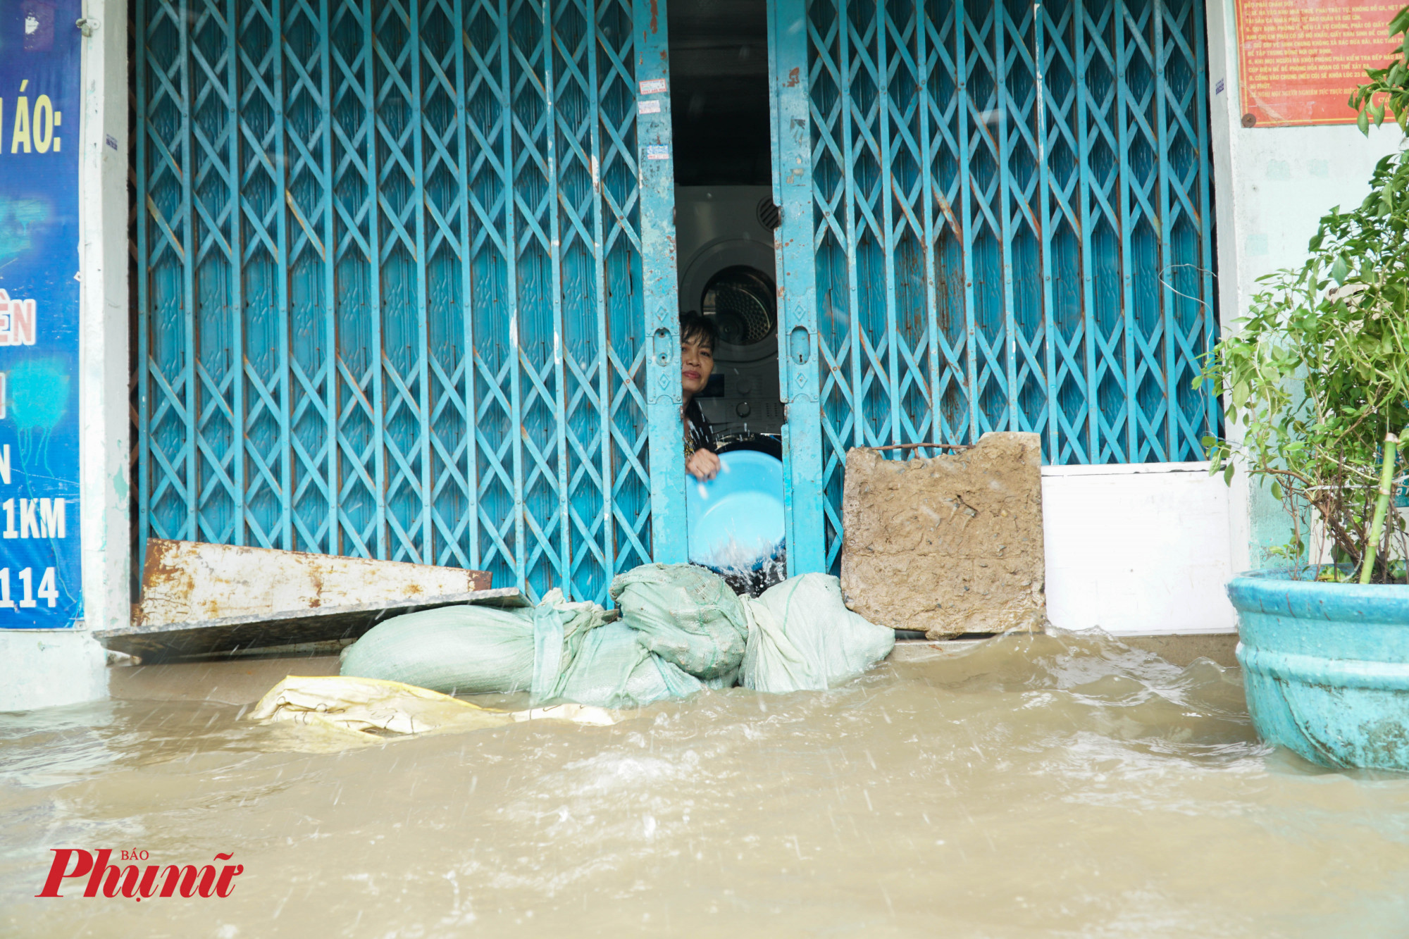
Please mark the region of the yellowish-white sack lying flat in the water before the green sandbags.
POLYGON ((249 720, 292 722, 356 735, 366 742, 387 736, 499 728, 520 720, 571 720, 604 726, 616 723, 607 711, 558 705, 533 711, 492 711, 437 691, 380 678, 289 675, 259 699, 249 720))

